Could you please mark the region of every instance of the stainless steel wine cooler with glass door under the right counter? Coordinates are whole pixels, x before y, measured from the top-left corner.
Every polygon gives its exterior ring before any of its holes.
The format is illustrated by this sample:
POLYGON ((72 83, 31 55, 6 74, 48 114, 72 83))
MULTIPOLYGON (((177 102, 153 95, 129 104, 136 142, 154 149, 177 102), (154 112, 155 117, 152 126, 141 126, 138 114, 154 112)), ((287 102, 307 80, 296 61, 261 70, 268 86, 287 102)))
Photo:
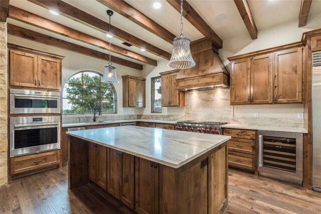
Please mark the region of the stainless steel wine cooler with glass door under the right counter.
POLYGON ((302 184, 303 134, 259 130, 258 135, 259 174, 302 184))

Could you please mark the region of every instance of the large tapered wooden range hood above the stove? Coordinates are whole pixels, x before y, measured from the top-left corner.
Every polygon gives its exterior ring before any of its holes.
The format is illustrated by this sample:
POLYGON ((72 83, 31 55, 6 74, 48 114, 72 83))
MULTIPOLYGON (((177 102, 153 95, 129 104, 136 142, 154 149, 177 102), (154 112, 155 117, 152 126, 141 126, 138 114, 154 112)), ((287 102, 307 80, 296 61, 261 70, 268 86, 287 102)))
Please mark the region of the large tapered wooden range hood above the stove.
POLYGON ((196 65, 179 71, 176 78, 178 90, 206 90, 230 86, 229 72, 211 41, 201 38, 192 42, 191 52, 196 65))

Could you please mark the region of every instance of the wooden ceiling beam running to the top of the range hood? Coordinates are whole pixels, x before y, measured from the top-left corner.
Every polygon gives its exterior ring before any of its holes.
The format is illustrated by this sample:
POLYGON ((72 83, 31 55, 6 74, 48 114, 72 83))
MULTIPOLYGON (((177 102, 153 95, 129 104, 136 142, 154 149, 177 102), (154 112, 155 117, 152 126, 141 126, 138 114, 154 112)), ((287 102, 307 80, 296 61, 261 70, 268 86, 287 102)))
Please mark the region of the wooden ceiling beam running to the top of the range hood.
MULTIPOLYGON (((166 1, 181 13, 181 0, 166 1)), ((217 49, 223 47, 222 39, 214 32, 214 30, 186 0, 184 0, 183 2, 183 15, 191 24, 193 24, 193 26, 195 26, 205 37, 207 37, 216 46, 217 49)))

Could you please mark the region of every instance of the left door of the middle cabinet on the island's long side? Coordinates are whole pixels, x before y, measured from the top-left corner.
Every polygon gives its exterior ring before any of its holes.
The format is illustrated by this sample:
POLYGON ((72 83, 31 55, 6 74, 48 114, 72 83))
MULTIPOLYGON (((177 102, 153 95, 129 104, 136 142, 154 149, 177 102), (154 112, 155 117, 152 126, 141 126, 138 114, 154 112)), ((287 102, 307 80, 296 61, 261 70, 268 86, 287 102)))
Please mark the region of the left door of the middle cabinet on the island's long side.
POLYGON ((121 151, 107 149, 107 191, 119 198, 121 178, 121 151))

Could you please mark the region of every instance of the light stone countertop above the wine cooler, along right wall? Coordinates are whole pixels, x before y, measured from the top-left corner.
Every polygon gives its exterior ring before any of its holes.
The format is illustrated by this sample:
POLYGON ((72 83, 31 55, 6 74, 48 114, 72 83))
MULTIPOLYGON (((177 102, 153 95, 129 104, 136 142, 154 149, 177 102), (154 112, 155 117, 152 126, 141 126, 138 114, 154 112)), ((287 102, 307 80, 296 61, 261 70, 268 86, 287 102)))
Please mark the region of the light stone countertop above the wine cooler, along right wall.
POLYGON ((282 131, 282 132, 295 132, 307 133, 305 128, 298 127, 281 127, 281 126, 265 126, 265 125, 245 125, 245 124, 232 124, 228 123, 222 125, 223 128, 240 128, 240 129, 253 129, 253 130, 267 130, 267 131, 282 131))

